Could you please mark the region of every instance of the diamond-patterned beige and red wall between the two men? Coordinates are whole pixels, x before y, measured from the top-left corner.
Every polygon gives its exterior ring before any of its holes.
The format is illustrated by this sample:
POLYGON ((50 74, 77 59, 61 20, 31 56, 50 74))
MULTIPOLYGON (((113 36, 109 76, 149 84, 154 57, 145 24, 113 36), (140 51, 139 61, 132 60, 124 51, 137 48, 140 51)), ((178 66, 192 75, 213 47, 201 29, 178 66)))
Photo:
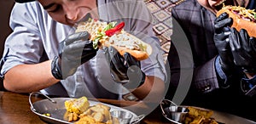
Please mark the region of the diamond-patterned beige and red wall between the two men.
POLYGON ((154 18, 154 33, 160 39, 161 48, 165 51, 164 59, 167 59, 171 46, 172 35, 172 7, 184 0, 144 0, 154 18))

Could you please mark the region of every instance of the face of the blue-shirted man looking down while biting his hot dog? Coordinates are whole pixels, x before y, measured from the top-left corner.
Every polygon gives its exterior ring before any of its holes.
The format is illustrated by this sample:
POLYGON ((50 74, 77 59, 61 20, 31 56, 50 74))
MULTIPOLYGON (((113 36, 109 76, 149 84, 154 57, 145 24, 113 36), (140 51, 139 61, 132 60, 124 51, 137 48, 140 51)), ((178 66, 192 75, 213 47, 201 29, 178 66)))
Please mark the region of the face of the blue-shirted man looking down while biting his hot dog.
POLYGON ((96 0, 38 0, 49 16, 62 24, 74 25, 85 14, 94 12, 96 18, 96 0))

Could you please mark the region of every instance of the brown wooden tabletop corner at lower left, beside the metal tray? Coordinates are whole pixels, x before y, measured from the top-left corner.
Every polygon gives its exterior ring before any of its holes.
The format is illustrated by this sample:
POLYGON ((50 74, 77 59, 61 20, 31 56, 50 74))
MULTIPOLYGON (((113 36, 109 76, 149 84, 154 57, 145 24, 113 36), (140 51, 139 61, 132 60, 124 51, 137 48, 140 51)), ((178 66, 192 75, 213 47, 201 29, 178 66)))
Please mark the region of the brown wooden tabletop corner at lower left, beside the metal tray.
POLYGON ((44 122, 30 110, 28 94, 0 92, 0 123, 40 124, 44 122))

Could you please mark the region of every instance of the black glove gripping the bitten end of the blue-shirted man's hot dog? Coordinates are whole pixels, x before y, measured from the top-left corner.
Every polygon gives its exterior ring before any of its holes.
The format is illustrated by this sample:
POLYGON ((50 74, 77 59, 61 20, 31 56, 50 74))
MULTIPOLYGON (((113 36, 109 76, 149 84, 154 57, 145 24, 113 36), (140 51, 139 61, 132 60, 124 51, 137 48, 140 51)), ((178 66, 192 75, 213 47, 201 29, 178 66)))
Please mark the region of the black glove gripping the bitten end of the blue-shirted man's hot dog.
POLYGON ((56 79, 65 79, 72 76, 79 65, 96 56, 98 49, 94 49, 88 41, 90 34, 87 31, 74 33, 60 44, 59 56, 52 61, 52 74, 56 79))

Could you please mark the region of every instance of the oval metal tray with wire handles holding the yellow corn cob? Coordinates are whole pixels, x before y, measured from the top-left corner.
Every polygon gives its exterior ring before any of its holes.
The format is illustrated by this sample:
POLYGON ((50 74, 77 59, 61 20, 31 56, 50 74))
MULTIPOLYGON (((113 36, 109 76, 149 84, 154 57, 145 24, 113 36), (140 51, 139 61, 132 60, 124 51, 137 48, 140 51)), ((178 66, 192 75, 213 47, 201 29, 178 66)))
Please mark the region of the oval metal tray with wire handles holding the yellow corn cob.
MULTIPOLYGON (((46 97, 47 99, 39 100, 32 103, 32 95, 35 93, 42 94, 42 95, 44 94, 39 92, 33 92, 33 93, 30 93, 29 95, 29 104, 31 105, 30 108, 34 114, 40 117, 41 120, 46 121, 48 123, 54 123, 54 124, 57 124, 57 123, 68 124, 68 123, 75 122, 75 121, 68 122, 64 120, 64 115, 67 111, 64 103, 66 100, 70 100, 72 98, 52 98, 51 99, 47 95, 44 95, 44 97, 46 97), (45 116, 44 114, 49 114, 50 116, 45 116)), ((100 102, 91 101, 91 100, 88 100, 88 101, 90 103, 90 106, 100 103, 100 102)), ((133 116, 131 119, 132 124, 138 123, 144 117, 143 115, 137 116, 135 113, 131 112, 130 110, 125 110, 123 108, 113 106, 111 104, 106 104, 106 105, 108 105, 111 108, 110 111, 124 110, 124 111, 130 112, 133 116)))

